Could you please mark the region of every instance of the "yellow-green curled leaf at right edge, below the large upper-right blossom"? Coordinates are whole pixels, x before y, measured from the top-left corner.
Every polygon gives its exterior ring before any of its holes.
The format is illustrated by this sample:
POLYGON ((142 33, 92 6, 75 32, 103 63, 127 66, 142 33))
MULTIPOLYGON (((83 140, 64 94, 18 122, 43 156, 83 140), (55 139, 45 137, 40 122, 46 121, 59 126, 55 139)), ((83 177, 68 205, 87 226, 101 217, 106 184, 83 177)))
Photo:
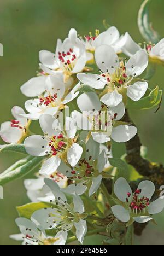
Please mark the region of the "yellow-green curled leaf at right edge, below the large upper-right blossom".
POLYGON ((141 98, 139 101, 132 101, 128 98, 127 108, 136 109, 136 110, 144 110, 151 109, 155 106, 160 105, 162 100, 162 90, 159 90, 159 86, 150 92, 150 94, 144 98, 141 98))

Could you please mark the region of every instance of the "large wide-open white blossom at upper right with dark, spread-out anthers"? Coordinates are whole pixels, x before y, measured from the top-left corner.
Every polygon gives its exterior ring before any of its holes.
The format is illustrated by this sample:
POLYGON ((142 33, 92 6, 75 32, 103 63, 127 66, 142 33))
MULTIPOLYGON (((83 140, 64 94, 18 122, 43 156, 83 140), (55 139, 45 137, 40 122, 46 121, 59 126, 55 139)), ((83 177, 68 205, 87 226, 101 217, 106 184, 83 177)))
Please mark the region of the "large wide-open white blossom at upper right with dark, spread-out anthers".
POLYGON ((101 45, 95 51, 95 59, 101 74, 77 75, 80 82, 92 88, 103 90, 101 102, 110 107, 117 106, 125 95, 133 101, 142 98, 148 89, 146 81, 137 81, 136 77, 143 73, 148 66, 148 55, 139 50, 127 62, 119 61, 114 49, 101 45))

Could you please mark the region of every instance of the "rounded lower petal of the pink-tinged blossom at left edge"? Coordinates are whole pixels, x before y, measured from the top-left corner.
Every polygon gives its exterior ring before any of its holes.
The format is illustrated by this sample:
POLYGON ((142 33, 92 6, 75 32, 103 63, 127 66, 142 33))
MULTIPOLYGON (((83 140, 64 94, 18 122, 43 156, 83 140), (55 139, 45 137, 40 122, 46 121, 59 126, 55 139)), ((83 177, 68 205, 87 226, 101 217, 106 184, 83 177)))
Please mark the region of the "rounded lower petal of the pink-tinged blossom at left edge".
POLYGON ((23 132, 17 127, 8 127, 0 131, 0 136, 7 143, 17 143, 23 136, 23 132))

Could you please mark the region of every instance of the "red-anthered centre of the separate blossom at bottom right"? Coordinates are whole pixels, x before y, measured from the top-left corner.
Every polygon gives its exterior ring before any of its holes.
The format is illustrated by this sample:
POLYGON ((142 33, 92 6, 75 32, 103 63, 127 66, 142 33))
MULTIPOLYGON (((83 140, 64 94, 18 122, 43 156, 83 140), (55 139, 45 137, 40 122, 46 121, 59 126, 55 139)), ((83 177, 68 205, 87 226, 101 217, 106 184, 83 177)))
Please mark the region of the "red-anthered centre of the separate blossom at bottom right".
POLYGON ((128 207, 130 207, 131 211, 138 215, 140 213, 145 213, 147 208, 150 205, 150 200, 147 197, 140 197, 140 193, 142 192, 141 189, 136 190, 135 193, 132 195, 132 199, 130 199, 131 197, 131 193, 127 193, 127 198, 126 198, 126 202, 128 207))

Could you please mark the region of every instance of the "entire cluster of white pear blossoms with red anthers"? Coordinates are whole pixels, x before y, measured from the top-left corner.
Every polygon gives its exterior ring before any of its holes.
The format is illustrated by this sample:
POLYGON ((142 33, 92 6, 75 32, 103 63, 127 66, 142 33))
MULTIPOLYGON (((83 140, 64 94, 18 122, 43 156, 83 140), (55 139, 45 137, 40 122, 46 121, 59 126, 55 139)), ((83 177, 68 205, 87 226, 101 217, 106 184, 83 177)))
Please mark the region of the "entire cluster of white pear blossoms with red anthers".
MULTIPOLYGON (((145 95, 148 82, 140 75, 148 55, 162 59, 162 42, 142 49, 115 27, 84 39, 72 28, 63 42, 57 40, 55 53, 40 51, 37 77, 21 86, 30 98, 28 113, 14 107, 15 119, 1 125, 0 135, 7 143, 24 142, 31 156, 45 157, 36 179, 26 180, 25 187, 32 202, 51 207, 34 212, 31 221, 16 219, 21 235, 12 238, 24 245, 64 245, 71 230, 83 243, 87 214, 80 196, 91 197, 106 177, 112 141, 127 142, 136 135, 137 128, 122 120, 127 99, 137 102, 145 95), (39 120, 42 135, 31 135, 32 120, 39 120), (56 236, 47 236, 47 229, 56 229, 56 236)), ((147 222, 164 207, 162 199, 150 203, 154 185, 147 181, 133 194, 121 178, 114 192, 119 203, 112 211, 122 222, 147 222)))

